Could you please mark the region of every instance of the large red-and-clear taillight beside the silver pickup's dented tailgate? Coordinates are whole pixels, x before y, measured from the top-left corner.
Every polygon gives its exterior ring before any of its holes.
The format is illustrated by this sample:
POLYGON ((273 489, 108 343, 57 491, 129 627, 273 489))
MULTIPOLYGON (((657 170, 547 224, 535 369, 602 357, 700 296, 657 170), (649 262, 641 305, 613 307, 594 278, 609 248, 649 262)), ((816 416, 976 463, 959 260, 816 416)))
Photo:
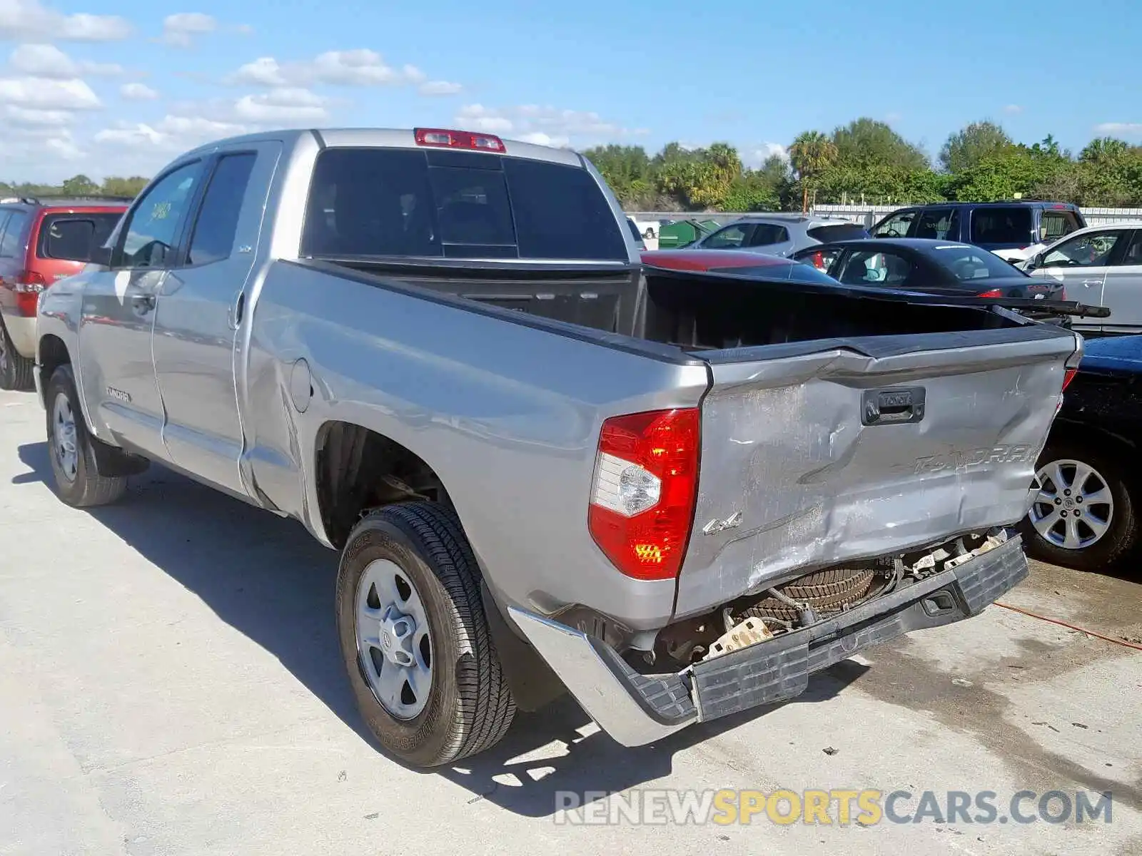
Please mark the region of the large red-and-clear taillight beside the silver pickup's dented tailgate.
POLYGON ((636 580, 673 580, 694 518, 700 457, 697 407, 614 417, 598 437, 587 527, 636 580))

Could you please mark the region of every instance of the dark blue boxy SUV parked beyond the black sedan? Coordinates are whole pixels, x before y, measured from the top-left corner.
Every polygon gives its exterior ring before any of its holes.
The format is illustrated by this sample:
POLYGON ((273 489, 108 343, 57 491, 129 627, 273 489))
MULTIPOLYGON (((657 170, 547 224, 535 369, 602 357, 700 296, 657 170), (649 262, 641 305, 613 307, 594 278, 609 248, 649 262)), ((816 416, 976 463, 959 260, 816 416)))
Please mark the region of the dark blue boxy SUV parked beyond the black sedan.
POLYGON ((872 237, 958 241, 1018 261, 1030 247, 1084 226, 1083 212, 1067 202, 940 202, 893 211, 871 233, 872 237))

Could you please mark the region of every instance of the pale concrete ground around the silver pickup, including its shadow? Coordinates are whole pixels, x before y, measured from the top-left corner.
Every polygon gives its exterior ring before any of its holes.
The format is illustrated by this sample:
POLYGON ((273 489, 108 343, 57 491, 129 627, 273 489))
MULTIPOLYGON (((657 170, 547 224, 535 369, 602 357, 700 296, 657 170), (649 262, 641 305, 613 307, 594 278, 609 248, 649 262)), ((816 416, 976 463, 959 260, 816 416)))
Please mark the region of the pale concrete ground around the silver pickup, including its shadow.
MULTIPOLYGON (((562 702, 484 756, 409 770, 354 711, 336 555, 161 470, 69 509, 43 421, 0 393, 0 854, 1142 854, 1142 652, 998 607, 654 746, 622 750, 562 702), (640 788, 1115 801, 1109 824, 556 823, 556 792, 640 788)), ((1036 566, 1006 601, 1139 638, 1140 595, 1036 566)))

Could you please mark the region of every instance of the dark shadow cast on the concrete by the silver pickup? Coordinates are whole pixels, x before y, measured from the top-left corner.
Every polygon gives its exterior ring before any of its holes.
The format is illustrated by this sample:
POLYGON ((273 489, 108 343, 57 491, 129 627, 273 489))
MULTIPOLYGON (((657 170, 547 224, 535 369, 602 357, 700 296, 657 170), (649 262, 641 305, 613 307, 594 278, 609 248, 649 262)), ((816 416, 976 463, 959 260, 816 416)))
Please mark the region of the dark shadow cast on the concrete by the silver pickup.
MULTIPOLYGON (((50 484, 46 443, 22 445, 18 453, 31 471, 16 476, 15 483, 50 484)), ((330 711, 376 746, 341 665, 332 601, 336 552, 293 520, 161 467, 131 479, 121 502, 90 514, 198 595, 223 621, 276 656, 330 711)), ((830 698, 864 671, 851 661, 839 663, 787 703, 830 698)), ((542 711, 520 713, 507 737, 488 752, 426 775, 442 775, 464 786, 473 793, 472 801, 547 816, 556 809, 558 791, 614 792, 660 778, 670 773, 675 752, 767 710, 684 728, 649 746, 622 749, 594 729, 573 700, 563 697, 542 711)))

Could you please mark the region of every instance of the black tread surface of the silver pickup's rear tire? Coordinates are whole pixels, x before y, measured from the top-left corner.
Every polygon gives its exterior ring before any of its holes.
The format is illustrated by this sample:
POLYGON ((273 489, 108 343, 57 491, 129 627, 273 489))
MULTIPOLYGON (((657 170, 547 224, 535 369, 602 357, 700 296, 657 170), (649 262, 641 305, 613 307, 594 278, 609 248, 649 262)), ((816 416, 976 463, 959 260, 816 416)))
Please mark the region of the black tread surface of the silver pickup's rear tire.
POLYGON ((460 704, 455 711, 451 737, 433 766, 490 749, 510 727, 515 701, 484 615, 478 565, 459 519, 433 502, 394 503, 363 519, 370 518, 388 520, 424 551, 456 609, 453 630, 473 655, 457 664, 460 704))

